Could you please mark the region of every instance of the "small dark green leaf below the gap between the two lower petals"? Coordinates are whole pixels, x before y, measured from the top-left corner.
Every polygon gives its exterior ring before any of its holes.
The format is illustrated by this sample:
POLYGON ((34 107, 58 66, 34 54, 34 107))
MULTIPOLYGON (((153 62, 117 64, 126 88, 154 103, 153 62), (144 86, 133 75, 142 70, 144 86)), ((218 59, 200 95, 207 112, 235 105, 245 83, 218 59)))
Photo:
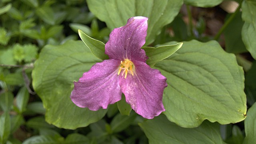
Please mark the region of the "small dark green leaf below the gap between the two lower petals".
POLYGON ((113 132, 121 132, 126 129, 135 120, 136 114, 132 112, 130 116, 117 114, 110 123, 113 132))

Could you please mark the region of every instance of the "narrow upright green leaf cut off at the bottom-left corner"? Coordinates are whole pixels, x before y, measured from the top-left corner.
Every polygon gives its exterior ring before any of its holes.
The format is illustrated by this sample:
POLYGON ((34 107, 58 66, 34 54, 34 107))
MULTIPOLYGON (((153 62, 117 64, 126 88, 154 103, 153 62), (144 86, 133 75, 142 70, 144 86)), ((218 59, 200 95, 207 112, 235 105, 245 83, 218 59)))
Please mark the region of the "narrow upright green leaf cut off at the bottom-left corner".
POLYGON ((11 132, 11 120, 9 112, 0 115, 0 143, 5 144, 11 132))

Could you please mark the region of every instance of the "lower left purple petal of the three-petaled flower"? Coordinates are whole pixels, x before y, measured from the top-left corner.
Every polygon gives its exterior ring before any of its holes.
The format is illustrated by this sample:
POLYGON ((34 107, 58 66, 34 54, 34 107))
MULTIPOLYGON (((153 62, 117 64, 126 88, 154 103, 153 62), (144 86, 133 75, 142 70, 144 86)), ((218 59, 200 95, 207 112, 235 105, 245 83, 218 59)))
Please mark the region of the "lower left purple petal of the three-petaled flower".
POLYGON ((121 100, 122 92, 118 84, 120 60, 104 60, 85 72, 78 82, 74 82, 71 100, 79 107, 90 110, 106 109, 108 104, 121 100))

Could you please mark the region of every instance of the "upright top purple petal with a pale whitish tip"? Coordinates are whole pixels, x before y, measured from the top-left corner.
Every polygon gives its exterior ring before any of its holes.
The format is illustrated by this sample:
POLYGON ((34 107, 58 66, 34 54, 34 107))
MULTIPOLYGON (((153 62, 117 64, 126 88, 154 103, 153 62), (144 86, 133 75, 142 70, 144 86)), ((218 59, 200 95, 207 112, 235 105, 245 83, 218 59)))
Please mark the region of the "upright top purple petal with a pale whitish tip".
POLYGON ((141 47, 145 44, 148 18, 132 17, 125 26, 115 28, 105 45, 105 53, 110 59, 138 60, 145 62, 146 54, 141 47))

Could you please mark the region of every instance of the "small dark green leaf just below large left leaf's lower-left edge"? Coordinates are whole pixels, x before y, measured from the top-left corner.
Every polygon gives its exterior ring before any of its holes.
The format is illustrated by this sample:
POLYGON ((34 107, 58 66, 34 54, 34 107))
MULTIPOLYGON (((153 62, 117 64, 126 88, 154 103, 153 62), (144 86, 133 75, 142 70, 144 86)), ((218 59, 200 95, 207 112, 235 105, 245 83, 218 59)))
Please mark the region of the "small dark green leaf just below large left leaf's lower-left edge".
POLYGON ((44 116, 37 116, 34 118, 30 118, 28 122, 26 122, 26 126, 34 129, 39 129, 39 128, 53 128, 53 125, 48 124, 44 120, 44 116))

